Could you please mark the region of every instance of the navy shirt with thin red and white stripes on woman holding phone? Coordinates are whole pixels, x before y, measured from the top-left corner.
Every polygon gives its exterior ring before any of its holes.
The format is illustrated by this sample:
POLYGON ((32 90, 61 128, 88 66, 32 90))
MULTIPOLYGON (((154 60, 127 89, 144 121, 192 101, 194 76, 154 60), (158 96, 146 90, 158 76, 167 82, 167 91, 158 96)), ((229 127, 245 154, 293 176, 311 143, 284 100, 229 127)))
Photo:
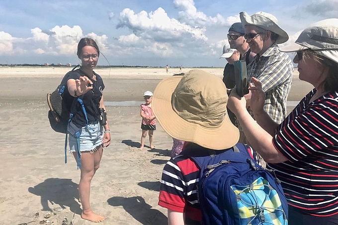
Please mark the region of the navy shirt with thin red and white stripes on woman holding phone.
POLYGON ((276 170, 289 205, 304 213, 338 214, 338 92, 313 102, 312 90, 276 130, 273 145, 288 161, 276 170))

